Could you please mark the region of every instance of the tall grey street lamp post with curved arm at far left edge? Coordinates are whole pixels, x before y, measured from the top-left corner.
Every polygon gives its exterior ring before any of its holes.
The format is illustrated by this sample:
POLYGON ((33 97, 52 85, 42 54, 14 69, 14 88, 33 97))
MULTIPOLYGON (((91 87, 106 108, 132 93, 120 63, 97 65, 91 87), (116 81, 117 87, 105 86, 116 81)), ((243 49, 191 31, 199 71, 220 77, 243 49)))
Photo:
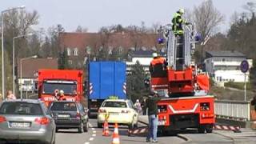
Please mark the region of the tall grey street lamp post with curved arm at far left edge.
POLYGON ((3 37, 3 29, 4 29, 4 23, 3 23, 3 15, 4 13, 10 11, 10 10, 17 10, 17 9, 24 9, 25 6, 18 6, 18 7, 14 7, 14 8, 10 8, 10 9, 7 9, 7 10, 2 10, 1 11, 1 36, 2 36, 2 98, 4 99, 5 98, 5 66, 4 66, 4 46, 3 46, 3 43, 4 43, 4 37, 3 37))

